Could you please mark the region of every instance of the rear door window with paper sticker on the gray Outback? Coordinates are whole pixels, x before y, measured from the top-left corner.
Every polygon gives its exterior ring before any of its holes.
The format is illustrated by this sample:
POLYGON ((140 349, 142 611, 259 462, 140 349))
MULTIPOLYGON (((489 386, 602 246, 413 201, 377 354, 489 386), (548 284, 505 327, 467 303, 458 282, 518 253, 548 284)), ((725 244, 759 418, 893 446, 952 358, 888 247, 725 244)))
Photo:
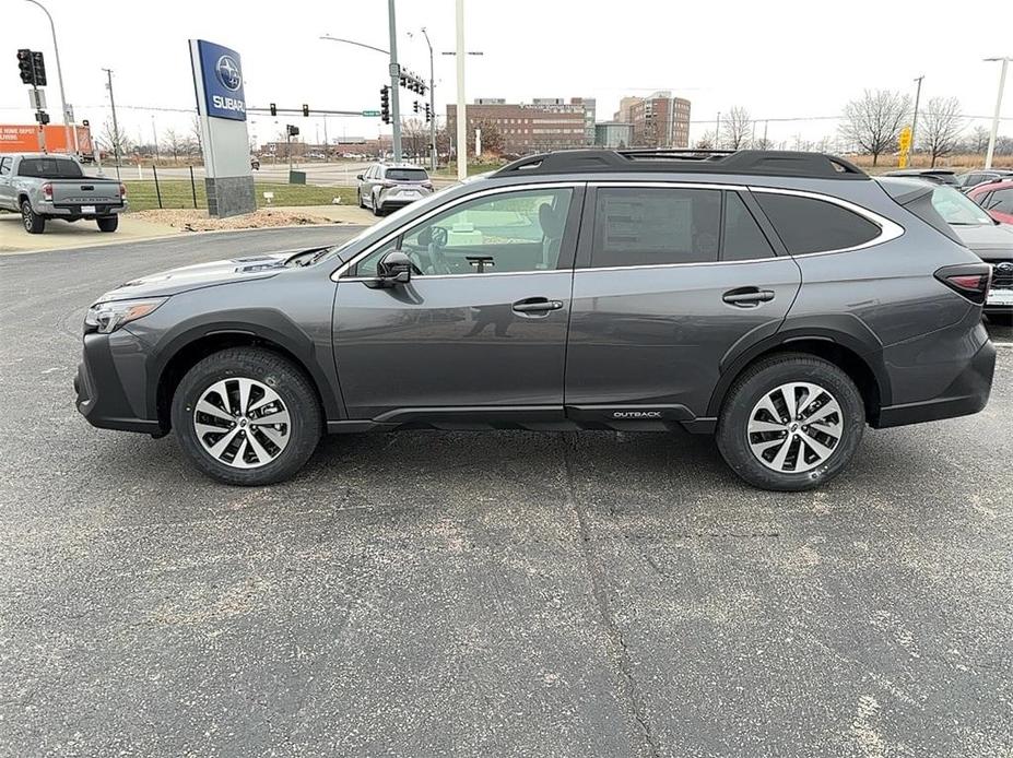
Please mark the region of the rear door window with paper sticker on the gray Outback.
POLYGON ((591 265, 714 262, 720 224, 718 190, 599 189, 591 265))

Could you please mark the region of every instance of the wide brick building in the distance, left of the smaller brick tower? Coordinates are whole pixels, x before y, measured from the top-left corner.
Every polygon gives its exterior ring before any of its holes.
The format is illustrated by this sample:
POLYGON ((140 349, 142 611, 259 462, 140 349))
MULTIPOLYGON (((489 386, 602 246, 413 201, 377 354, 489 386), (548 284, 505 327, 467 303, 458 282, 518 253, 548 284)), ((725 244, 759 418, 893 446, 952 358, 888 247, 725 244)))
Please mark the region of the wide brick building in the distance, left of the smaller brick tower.
MULTIPOLYGON (((493 123, 503 138, 503 153, 526 155, 549 150, 584 147, 593 143, 594 100, 541 98, 533 103, 504 103, 478 99, 469 105, 469 141, 474 129, 493 123), (590 126, 588 111, 590 110, 590 126)), ((457 134, 457 106, 447 105, 447 130, 457 134)))

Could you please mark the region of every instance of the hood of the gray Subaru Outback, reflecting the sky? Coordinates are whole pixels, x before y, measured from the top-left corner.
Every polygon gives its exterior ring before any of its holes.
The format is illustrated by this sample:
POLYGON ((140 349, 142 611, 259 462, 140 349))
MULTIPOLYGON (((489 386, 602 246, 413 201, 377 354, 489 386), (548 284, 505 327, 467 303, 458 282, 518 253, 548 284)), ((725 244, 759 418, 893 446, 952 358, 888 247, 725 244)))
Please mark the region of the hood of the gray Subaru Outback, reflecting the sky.
POLYGON ((105 300, 128 300, 139 297, 165 297, 188 289, 211 287, 216 284, 242 282, 247 280, 274 276, 284 270, 285 261, 292 251, 276 252, 244 258, 229 258, 224 261, 185 265, 179 269, 160 271, 139 279, 130 280, 98 298, 105 300))

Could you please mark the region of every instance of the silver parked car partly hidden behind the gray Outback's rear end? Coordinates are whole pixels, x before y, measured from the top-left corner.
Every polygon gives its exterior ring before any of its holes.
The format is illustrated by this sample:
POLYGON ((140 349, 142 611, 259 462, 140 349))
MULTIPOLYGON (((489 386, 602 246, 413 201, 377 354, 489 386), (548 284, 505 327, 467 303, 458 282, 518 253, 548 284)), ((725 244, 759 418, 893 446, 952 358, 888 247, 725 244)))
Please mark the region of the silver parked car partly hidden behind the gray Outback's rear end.
MULTIPOLYGON (((920 181, 885 178, 880 183, 905 206, 931 204, 961 241, 992 267, 985 315, 993 320, 1009 320, 1013 316, 1013 226, 1000 224, 952 187, 927 187, 920 181)), ((1013 183, 1010 186, 1013 188, 1013 183)))

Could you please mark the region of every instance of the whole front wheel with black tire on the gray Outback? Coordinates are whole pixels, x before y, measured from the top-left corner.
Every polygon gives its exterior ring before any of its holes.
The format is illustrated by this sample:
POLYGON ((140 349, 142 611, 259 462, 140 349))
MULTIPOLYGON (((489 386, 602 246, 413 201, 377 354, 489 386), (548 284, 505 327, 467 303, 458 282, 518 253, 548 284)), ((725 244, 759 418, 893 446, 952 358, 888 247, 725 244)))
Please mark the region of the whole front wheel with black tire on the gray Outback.
POLYGON ((287 359, 258 347, 229 347, 187 371, 173 396, 172 421, 180 447, 200 471, 219 482, 242 486, 292 477, 313 455, 323 433, 323 417, 310 380, 287 359), (247 407, 242 415, 231 416, 228 410, 242 408, 242 382, 252 386, 247 407), (268 402, 272 396, 276 402, 268 402), (201 408, 214 413, 209 415, 201 408), (229 426, 227 419, 232 417, 238 421, 229 426), (272 417, 282 423, 271 424, 272 417), (215 430, 209 431, 212 428, 215 430), (216 428, 223 431, 219 434, 216 428), (225 440, 229 435, 232 439, 225 440), (245 439, 247 435, 251 439, 245 439), (224 449, 215 453, 223 440, 224 449), (243 460, 238 460, 240 455, 243 460))

